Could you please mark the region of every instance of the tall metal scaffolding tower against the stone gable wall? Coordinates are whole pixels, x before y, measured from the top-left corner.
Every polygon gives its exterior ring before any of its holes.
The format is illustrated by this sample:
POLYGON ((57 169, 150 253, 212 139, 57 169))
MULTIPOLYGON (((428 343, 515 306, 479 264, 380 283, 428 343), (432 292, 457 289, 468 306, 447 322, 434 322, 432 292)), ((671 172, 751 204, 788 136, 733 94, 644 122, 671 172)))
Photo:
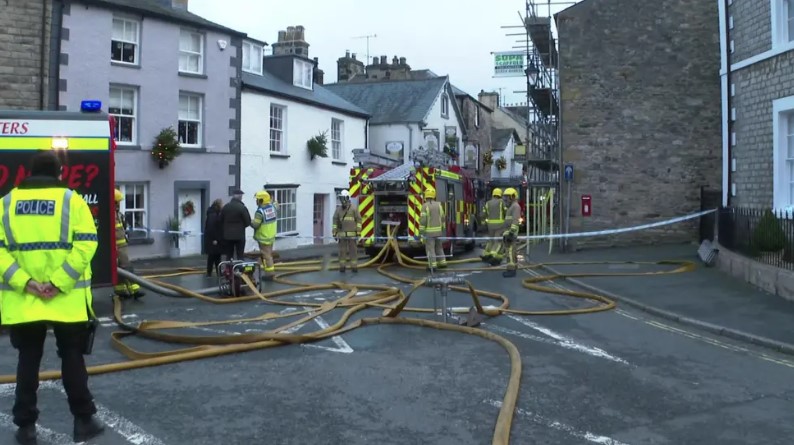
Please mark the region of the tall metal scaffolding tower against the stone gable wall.
MULTIPOLYGON (((524 0, 525 10, 518 13, 520 26, 503 26, 503 28, 521 28, 520 33, 507 34, 521 36, 516 42, 520 45, 513 49, 522 49, 526 57, 526 90, 516 93, 526 94, 526 156, 525 181, 527 188, 532 190, 530 196, 551 198, 553 202, 527 202, 528 219, 548 217, 550 224, 546 233, 561 232, 563 206, 562 184, 562 148, 561 148, 561 104, 559 83, 559 48, 554 26, 554 14, 581 0, 524 0), (532 211, 539 212, 535 215, 532 211), (550 213, 551 215, 547 215, 550 213), (554 215, 556 213, 556 215, 554 215), (556 224, 554 223, 556 219, 556 224)), ((523 110, 522 110, 523 111, 523 110)), ((534 199, 534 198, 532 198, 534 199)), ((546 224, 544 224, 545 226, 546 224)), ((540 233, 536 233, 540 234, 540 233)), ((560 240, 562 246, 562 240, 560 240)), ((527 248, 529 248, 527 244, 527 248)), ((551 249, 549 243, 549 248, 551 249)))

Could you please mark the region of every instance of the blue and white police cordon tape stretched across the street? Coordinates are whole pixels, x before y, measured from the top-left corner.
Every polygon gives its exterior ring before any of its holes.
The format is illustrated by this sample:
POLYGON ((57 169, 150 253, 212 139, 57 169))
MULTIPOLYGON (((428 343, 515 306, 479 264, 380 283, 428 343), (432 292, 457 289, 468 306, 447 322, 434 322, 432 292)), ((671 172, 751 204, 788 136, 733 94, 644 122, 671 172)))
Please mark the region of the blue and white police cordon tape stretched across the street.
MULTIPOLYGON (((576 233, 557 233, 557 234, 546 234, 546 235, 523 235, 518 236, 517 240, 519 241, 526 241, 526 240, 546 240, 546 239, 560 239, 560 238, 581 238, 585 236, 604 236, 604 235, 616 235, 618 233, 626 233, 626 232, 636 232, 638 230, 645 230, 645 229, 653 229, 655 227, 662 227, 662 226, 669 226, 671 224, 676 224, 684 221, 688 221, 690 219, 700 218, 701 216, 708 215, 710 213, 716 212, 717 209, 711 210, 704 210, 702 212, 692 213, 686 216, 679 216, 677 218, 667 219, 664 221, 658 221, 655 223, 649 224, 642 224, 639 226, 631 226, 631 227, 623 227, 620 229, 607 229, 607 230, 596 230, 592 232, 576 232, 576 233)), ((169 235, 180 235, 180 236, 202 236, 204 235, 202 232, 192 232, 192 231, 177 231, 177 230, 162 230, 162 229, 132 229, 128 230, 128 232, 145 232, 145 233, 163 233, 169 235)), ((304 235, 287 235, 287 236, 276 236, 276 239, 310 239, 310 240, 335 240, 336 237, 333 236, 304 236, 304 235)), ((397 241, 418 241, 419 237, 415 236, 399 236, 399 237, 386 237, 386 236, 377 236, 377 237, 370 237, 367 239, 373 239, 375 241, 388 241, 389 239, 396 239, 397 241)), ((489 240, 501 240, 502 237, 491 237, 491 236, 440 236, 437 239, 442 241, 489 241, 489 240)))

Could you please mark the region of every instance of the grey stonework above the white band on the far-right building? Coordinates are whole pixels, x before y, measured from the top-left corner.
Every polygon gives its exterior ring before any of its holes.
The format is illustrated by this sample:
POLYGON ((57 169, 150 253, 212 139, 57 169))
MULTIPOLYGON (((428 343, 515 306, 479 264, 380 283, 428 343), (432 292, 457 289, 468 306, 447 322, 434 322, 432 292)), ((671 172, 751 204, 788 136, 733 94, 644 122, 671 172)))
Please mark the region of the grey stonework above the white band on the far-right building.
POLYGON ((772 47, 769 0, 733 0, 728 6, 728 14, 733 17, 733 29, 729 30, 734 50, 731 63, 769 51, 772 47))

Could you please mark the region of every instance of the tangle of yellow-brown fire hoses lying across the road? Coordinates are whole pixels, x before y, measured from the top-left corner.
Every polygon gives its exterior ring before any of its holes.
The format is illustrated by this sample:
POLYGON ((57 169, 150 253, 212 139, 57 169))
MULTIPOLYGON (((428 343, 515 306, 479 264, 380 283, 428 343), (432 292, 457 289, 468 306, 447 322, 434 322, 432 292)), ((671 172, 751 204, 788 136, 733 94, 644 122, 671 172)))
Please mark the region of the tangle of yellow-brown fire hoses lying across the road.
MULTIPOLYGON (((479 258, 461 259, 448 261, 450 265, 463 265, 473 262, 479 262, 479 258)), ((620 262, 625 263, 625 262, 620 262)), ((550 263, 551 264, 551 263, 550 263)), ((575 265, 575 264, 605 264, 604 262, 592 263, 553 263, 557 265, 575 265)), ((643 264, 643 263, 634 263, 643 264)), ((601 312, 613 309, 615 302, 609 298, 596 295, 589 292, 581 292, 575 290, 553 288, 543 286, 540 283, 549 282, 557 279, 567 277, 595 277, 595 276, 627 276, 627 275, 660 275, 681 273, 693 270, 695 265, 689 261, 665 261, 644 264, 664 264, 678 266, 673 270, 658 271, 658 272, 635 272, 635 273, 579 273, 579 274, 565 274, 565 275, 545 275, 545 276, 532 276, 522 280, 522 286, 537 292, 551 293, 558 295, 565 295, 569 297, 576 297, 586 299, 597 303, 594 306, 579 308, 579 309, 564 309, 564 310, 550 310, 550 311, 526 311, 509 308, 509 300, 505 295, 490 292, 487 290, 475 289, 474 286, 466 281, 465 286, 450 286, 453 291, 467 293, 471 296, 473 307, 482 316, 495 317, 501 314, 514 314, 514 315, 572 315, 572 314, 585 314, 601 312), (483 307, 481 303, 482 298, 492 299, 498 301, 498 307, 483 307)), ((275 281, 291 285, 289 289, 278 290, 273 292, 260 293, 254 283, 243 275, 242 278, 248 285, 253 295, 241 296, 235 298, 218 298, 212 296, 217 293, 216 288, 207 288, 201 290, 190 290, 180 287, 171 283, 158 281, 155 278, 163 276, 175 276, 186 274, 197 274, 200 271, 190 269, 178 269, 174 273, 139 277, 131 274, 128 271, 119 269, 119 273, 124 278, 129 278, 136 281, 141 286, 144 286, 154 292, 168 297, 186 297, 195 298, 213 304, 235 304, 246 301, 265 301, 273 305, 281 306, 300 306, 309 307, 310 309, 295 311, 288 314, 279 314, 274 312, 267 312, 260 316, 247 318, 247 319, 233 319, 233 320, 214 320, 204 322, 185 322, 176 320, 154 320, 143 321, 138 326, 133 326, 125 323, 122 319, 123 304, 118 296, 113 297, 113 317, 115 322, 124 330, 115 331, 110 334, 111 344, 115 349, 124 354, 129 360, 125 362, 106 363, 102 365, 91 366, 88 368, 90 375, 106 374, 112 372, 119 372, 131 369, 138 369, 151 366, 159 366, 170 363, 183 362, 188 360, 196 360, 208 357, 219 357, 227 354, 234 354, 245 351, 253 351, 263 348, 270 348, 275 346, 282 346, 286 344, 308 343, 319 341, 336 335, 344 334, 345 332, 354 329, 371 326, 376 324, 406 324, 414 326, 429 327, 433 329, 460 332, 494 341, 502 346, 508 353, 510 358, 510 376, 505 389, 505 395, 502 406, 499 410, 499 415, 494 427, 494 434, 492 439, 493 445, 507 445, 510 442, 510 431, 515 411, 516 401, 519 393, 519 385, 521 381, 521 356, 516 346, 509 340, 502 336, 496 335, 492 332, 483 329, 458 326, 449 323, 442 323, 438 321, 409 318, 401 316, 403 313, 409 312, 423 312, 432 313, 434 309, 431 308, 418 308, 408 306, 408 302, 414 292, 422 287, 426 279, 413 279, 406 276, 399 275, 394 271, 387 270, 394 266, 400 266, 408 269, 424 269, 427 263, 425 261, 418 261, 408 257, 400 251, 399 244, 393 238, 387 242, 383 249, 373 258, 360 265, 361 268, 375 267, 377 272, 401 283, 412 284, 410 290, 405 293, 401 289, 378 284, 352 284, 342 282, 330 282, 326 284, 310 284, 302 283, 299 281, 291 280, 287 277, 298 275, 308 272, 317 272, 326 268, 336 269, 338 265, 329 265, 328 262, 322 260, 309 260, 309 261, 296 261, 289 263, 279 263, 276 265, 279 272, 275 276, 275 281), (395 263, 385 263, 383 259, 387 258, 389 253, 393 253, 395 263), (380 263, 380 264, 379 264, 380 263), (281 297, 286 297, 293 294, 306 293, 311 291, 323 290, 343 290, 347 291, 346 294, 333 301, 326 301, 324 303, 309 303, 309 302, 292 302, 281 300, 281 297), (357 296, 361 290, 371 290, 374 293, 357 296), (367 308, 381 308, 383 313, 380 317, 362 318, 349 323, 353 314, 367 308), (342 317, 333 325, 324 329, 314 331, 307 334, 285 334, 283 331, 300 324, 307 323, 315 317, 321 316, 335 309, 345 309, 342 317), (177 335, 162 332, 169 329, 177 328, 190 328, 200 326, 222 325, 228 323, 245 323, 263 320, 274 320, 280 318, 299 317, 290 323, 280 326, 273 330, 262 331, 258 333, 249 333, 241 335, 216 335, 216 336, 193 336, 193 335, 177 335), (164 352, 141 352, 127 346, 122 340, 126 337, 137 335, 143 338, 152 340, 159 340, 166 343, 176 343, 183 345, 190 345, 189 347, 176 349, 164 352)), ((538 267, 539 265, 525 266, 526 268, 538 267)), ((453 268, 455 272, 473 272, 483 270, 498 270, 500 267, 461 267, 453 268)), ((40 374, 42 380, 55 380, 61 378, 60 371, 50 370, 44 371, 40 374)), ((2 375, 0 376, 0 383, 15 383, 15 375, 2 375)))

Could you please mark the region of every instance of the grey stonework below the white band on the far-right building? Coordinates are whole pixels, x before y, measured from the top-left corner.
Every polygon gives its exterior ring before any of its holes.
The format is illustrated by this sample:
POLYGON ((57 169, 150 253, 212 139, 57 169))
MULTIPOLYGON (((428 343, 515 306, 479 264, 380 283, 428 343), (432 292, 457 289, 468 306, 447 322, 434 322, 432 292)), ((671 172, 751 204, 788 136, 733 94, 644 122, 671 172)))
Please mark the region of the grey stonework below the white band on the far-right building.
POLYGON ((769 208, 773 204, 772 101, 794 96, 794 52, 734 71, 731 81, 735 85, 731 106, 736 109, 736 145, 731 152, 736 159, 736 171, 731 173, 736 196, 731 197, 731 205, 769 208))

